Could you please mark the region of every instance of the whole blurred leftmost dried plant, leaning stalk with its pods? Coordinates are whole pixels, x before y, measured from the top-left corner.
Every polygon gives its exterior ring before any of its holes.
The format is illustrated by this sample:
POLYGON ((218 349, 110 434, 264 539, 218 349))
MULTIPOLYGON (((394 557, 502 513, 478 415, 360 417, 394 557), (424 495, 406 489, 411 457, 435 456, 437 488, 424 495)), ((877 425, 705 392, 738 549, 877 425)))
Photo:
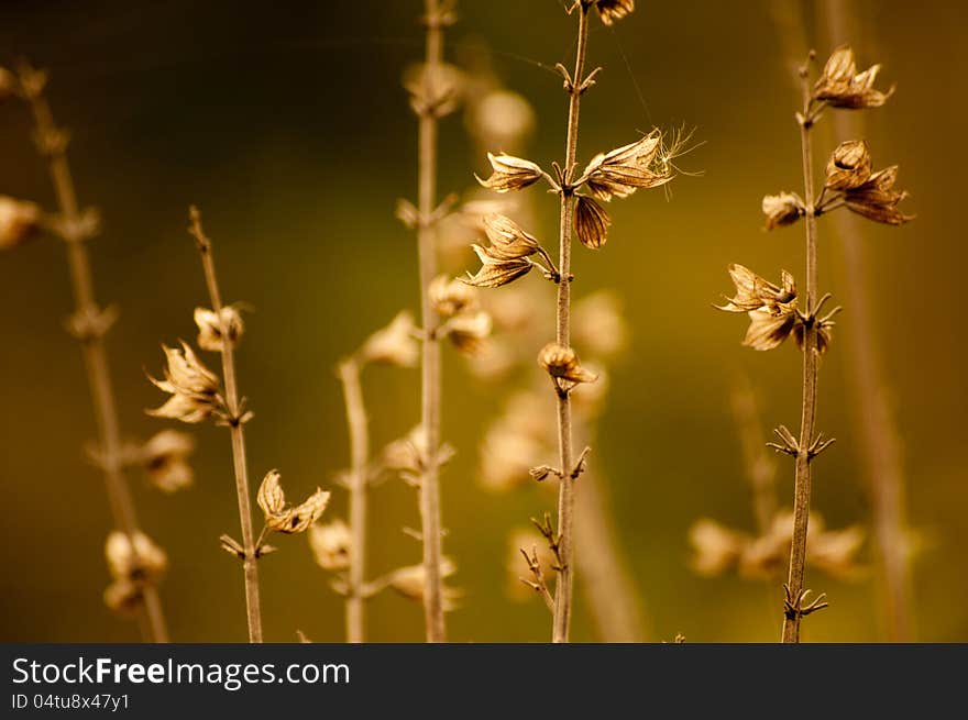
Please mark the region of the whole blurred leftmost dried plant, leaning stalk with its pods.
MULTIPOLYGON (((45 229, 64 241, 67 248, 67 263, 74 291, 75 311, 68 319, 68 332, 80 343, 87 368, 88 385, 98 427, 98 444, 90 455, 105 475, 105 485, 111 516, 117 530, 111 533, 109 545, 125 544, 124 573, 114 573, 114 583, 105 595, 106 602, 114 610, 143 614, 146 619, 145 638, 153 642, 167 642, 168 631, 158 596, 157 585, 161 572, 148 572, 153 567, 153 556, 144 554, 151 547, 157 550, 141 532, 134 500, 128 486, 127 467, 138 458, 148 459, 157 452, 151 441, 144 447, 135 446, 130 452, 121 441, 118 407, 105 336, 113 325, 117 308, 100 308, 95 299, 94 273, 88 253, 88 242, 99 232, 99 215, 92 208, 82 208, 78 202, 77 189, 67 160, 69 135, 54 122, 51 107, 44 93, 47 75, 26 63, 21 64, 13 74, 0 68, 0 100, 19 97, 30 108, 34 125, 34 142, 40 155, 46 160, 54 186, 57 211, 45 214, 41 207, 22 200, 0 197, 0 250, 11 248, 45 229)), ((183 481, 168 474, 162 484, 166 489, 184 485, 185 457, 190 447, 179 453, 178 472, 183 481)), ((150 468, 160 469, 160 468, 150 468)), ((188 470, 190 475, 190 470, 188 470)), ((156 476, 160 477, 160 476, 156 476)), ((164 553, 157 550, 161 556, 164 553)), ((111 553, 109 552, 109 561, 111 553)), ((112 567, 117 567, 112 565, 112 567)))

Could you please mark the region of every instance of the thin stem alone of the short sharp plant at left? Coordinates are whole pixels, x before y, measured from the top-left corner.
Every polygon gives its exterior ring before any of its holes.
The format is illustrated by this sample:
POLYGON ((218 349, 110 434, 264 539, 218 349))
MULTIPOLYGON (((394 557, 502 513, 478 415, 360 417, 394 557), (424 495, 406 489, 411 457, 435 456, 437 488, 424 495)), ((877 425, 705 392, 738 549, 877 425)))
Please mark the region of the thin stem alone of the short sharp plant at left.
POLYGON ((201 213, 197 208, 190 210, 191 226, 189 232, 195 237, 201 255, 205 272, 205 284, 208 287, 209 300, 216 317, 221 322, 222 336, 222 375, 226 383, 226 406, 229 412, 229 431, 232 436, 232 465, 235 473, 235 495, 239 499, 239 522, 242 525, 242 549, 245 557, 242 561, 245 577, 245 611, 249 621, 249 642, 262 642, 262 611, 258 600, 258 556, 252 532, 252 505, 249 489, 249 466, 245 462, 245 431, 239 388, 235 381, 235 355, 228 323, 222 317, 222 296, 216 275, 211 241, 201 226, 201 213))

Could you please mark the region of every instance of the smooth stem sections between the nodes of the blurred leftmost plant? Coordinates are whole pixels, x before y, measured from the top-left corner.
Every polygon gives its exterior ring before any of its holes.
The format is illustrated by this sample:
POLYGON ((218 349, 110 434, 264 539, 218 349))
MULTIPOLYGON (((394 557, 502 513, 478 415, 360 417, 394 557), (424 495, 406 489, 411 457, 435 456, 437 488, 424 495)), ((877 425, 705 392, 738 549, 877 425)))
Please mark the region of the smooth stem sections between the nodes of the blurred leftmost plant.
MULTIPOLYGON (((34 74, 35 70, 24 67, 22 73, 34 74)), ((44 139, 63 137, 54 123, 46 98, 40 92, 28 92, 26 99, 33 113, 37 140, 43 143, 44 139)), ((47 153, 45 155, 61 214, 65 223, 76 228, 81 222, 81 212, 77 202, 77 192, 70 174, 70 166, 67 162, 66 142, 48 143, 46 147, 47 153)), ((70 284, 74 292, 75 317, 82 322, 91 324, 92 321, 101 315, 102 311, 95 300, 94 274, 86 244, 87 239, 70 233, 68 235, 65 237, 65 241, 67 244, 70 284)), ((91 326, 94 328, 94 324, 91 326)), ((136 562, 134 535, 140 532, 140 528, 134 509, 134 500, 131 497, 131 490, 124 476, 121 456, 121 431, 118 422, 114 390, 111 385, 111 373, 108 366, 108 353, 105 347, 105 331, 92 330, 87 335, 80 337, 80 342, 98 425, 99 461, 105 473, 105 486, 108 492, 111 517, 113 518, 114 525, 128 536, 131 552, 135 555, 136 562)), ((145 585, 142 588, 142 598, 144 600, 144 614, 147 620, 142 625, 147 630, 143 634, 152 642, 168 642, 168 631, 157 588, 154 585, 145 585)))

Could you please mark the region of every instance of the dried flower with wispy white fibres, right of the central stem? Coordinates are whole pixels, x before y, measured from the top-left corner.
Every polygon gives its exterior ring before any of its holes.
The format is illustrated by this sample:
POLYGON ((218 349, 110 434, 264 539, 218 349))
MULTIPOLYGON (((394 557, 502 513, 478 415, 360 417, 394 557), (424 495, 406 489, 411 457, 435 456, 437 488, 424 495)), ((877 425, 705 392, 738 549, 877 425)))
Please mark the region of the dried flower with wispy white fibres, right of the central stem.
POLYGON ((600 153, 585 168, 583 178, 600 200, 626 198, 638 188, 654 188, 672 179, 668 166, 657 166, 662 134, 653 130, 639 141, 609 153, 600 153))

